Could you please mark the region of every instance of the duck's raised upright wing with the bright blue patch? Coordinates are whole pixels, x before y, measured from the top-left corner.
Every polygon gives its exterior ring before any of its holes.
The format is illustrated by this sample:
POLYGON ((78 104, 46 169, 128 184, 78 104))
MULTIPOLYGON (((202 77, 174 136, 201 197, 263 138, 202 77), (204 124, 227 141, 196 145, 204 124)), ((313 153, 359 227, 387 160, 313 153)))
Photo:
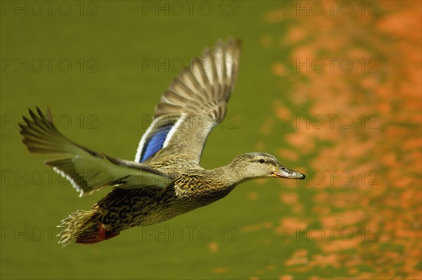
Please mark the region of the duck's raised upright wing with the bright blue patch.
POLYGON ((139 142, 137 163, 151 164, 166 155, 183 155, 199 164, 208 134, 226 113, 240 50, 238 40, 219 40, 181 71, 155 108, 153 122, 139 142))

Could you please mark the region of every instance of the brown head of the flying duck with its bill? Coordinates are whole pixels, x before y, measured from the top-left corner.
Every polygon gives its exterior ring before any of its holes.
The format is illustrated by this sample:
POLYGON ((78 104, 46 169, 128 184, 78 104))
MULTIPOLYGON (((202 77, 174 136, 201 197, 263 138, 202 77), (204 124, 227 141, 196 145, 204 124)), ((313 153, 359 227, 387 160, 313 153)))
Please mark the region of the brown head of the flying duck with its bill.
POLYGON ((281 165, 273 155, 269 153, 244 153, 236 156, 231 166, 241 181, 250 179, 279 177, 287 179, 305 179, 305 175, 290 170, 281 165))

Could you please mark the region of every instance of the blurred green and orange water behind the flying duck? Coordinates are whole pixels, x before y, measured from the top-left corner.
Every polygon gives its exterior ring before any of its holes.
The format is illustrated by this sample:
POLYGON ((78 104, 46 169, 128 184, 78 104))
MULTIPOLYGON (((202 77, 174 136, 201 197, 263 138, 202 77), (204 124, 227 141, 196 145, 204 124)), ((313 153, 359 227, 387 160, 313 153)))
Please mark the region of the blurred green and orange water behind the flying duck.
POLYGON ((49 3, 1 1, 1 279, 421 279, 419 1, 332 13, 312 1, 49 3), (238 82, 203 166, 266 151, 309 179, 248 182, 162 224, 61 248, 55 225, 106 191, 78 198, 27 153, 21 115, 49 106, 70 139, 133 159, 180 62, 230 35, 243 43, 238 82), (309 69, 286 64, 296 58, 309 69), (319 58, 354 64, 321 70, 319 58))

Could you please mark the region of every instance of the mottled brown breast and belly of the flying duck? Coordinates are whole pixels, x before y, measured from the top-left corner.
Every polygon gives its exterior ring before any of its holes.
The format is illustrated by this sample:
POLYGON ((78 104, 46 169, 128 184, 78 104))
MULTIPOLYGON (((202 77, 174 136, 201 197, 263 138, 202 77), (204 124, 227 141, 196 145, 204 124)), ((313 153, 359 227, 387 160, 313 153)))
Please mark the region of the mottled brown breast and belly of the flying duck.
MULTIPOLYGON (((98 221, 113 233, 131 227, 157 224, 218 201, 236 186, 225 184, 213 176, 210 170, 189 170, 187 174, 175 177, 174 184, 164 190, 113 189, 91 209, 91 220, 94 221, 92 228, 82 234, 77 242, 89 243, 91 239, 96 240, 98 221), (91 238, 91 234, 94 234, 94 238, 91 238)), ((67 221, 63 222, 65 226, 67 221)))

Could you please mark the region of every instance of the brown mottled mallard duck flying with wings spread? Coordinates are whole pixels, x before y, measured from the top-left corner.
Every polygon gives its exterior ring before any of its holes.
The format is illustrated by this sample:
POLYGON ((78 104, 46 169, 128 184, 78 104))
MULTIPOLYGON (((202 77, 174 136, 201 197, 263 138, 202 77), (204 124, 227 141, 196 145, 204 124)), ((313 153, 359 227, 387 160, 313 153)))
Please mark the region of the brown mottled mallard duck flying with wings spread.
POLYGON ((268 153, 245 153, 213 170, 200 166, 205 141, 222 121, 238 74, 241 44, 229 38, 205 49, 162 94, 134 161, 84 148, 61 134, 49 108, 29 110, 20 124, 30 153, 60 155, 46 165, 72 183, 79 196, 114 186, 91 210, 62 220, 63 246, 105 241, 120 231, 172 219, 227 196, 257 178, 304 179, 268 153))

